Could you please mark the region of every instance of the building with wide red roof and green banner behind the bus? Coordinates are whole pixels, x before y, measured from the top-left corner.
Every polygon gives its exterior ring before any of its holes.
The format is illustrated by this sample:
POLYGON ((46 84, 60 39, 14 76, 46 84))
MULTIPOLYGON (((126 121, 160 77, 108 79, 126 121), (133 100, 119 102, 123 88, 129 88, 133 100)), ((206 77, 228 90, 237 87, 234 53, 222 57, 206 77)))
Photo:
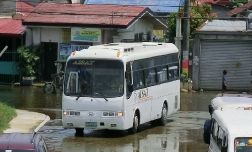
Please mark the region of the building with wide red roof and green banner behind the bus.
POLYGON ((166 23, 147 7, 120 5, 39 4, 23 22, 26 45, 44 50, 42 79, 56 72, 54 62, 65 62, 74 50, 112 42, 152 41, 154 29, 166 23))

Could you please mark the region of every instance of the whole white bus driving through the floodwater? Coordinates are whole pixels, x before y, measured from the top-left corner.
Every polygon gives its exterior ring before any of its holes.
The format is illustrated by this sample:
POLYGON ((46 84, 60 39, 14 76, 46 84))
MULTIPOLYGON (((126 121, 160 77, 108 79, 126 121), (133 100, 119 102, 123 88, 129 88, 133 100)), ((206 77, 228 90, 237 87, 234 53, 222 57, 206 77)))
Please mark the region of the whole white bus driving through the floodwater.
POLYGON ((129 130, 165 125, 180 109, 178 49, 171 43, 112 43, 73 52, 62 97, 64 128, 129 130), (120 85, 114 85, 114 84, 120 85))

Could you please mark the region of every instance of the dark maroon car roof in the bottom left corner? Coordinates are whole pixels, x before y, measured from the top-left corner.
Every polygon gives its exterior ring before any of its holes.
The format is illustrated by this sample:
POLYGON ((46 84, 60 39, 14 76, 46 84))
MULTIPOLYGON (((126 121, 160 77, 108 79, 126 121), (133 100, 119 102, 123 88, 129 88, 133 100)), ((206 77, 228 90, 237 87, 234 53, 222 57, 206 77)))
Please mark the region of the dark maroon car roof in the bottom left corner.
POLYGON ((0 149, 35 149, 32 133, 4 133, 0 134, 0 149))

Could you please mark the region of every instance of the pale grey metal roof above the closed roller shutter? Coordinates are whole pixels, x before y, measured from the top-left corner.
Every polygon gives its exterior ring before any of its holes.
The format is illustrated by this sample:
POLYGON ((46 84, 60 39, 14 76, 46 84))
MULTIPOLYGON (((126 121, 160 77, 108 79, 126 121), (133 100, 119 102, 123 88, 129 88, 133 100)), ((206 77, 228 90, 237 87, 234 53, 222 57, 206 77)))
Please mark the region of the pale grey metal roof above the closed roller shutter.
POLYGON ((212 20, 206 21, 197 31, 246 31, 246 21, 212 20))

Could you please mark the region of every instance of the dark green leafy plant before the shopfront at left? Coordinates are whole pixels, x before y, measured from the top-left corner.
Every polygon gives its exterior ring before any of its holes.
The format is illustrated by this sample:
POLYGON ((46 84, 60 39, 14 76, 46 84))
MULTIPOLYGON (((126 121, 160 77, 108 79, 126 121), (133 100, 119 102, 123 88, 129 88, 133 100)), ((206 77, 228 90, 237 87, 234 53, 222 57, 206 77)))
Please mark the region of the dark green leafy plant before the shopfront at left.
POLYGON ((39 74, 39 55, 41 53, 39 46, 21 46, 17 49, 19 62, 17 70, 21 76, 35 76, 39 74))

